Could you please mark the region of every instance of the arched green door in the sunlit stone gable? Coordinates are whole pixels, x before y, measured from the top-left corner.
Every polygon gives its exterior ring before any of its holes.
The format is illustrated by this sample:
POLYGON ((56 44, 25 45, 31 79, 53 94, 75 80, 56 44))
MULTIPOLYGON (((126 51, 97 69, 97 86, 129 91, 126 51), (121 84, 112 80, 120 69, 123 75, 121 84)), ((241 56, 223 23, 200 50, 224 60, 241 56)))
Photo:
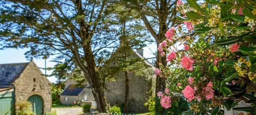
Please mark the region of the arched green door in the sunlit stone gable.
POLYGON ((39 95, 32 95, 28 98, 28 101, 32 103, 32 110, 35 115, 43 114, 43 101, 39 95))

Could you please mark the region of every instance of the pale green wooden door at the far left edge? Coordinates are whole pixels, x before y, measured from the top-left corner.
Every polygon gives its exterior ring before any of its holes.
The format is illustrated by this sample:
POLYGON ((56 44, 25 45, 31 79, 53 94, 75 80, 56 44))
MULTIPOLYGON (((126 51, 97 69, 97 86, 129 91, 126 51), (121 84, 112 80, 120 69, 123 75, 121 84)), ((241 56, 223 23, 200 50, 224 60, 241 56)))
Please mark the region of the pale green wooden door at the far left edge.
POLYGON ((0 115, 14 115, 14 92, 0 95, 0 115))

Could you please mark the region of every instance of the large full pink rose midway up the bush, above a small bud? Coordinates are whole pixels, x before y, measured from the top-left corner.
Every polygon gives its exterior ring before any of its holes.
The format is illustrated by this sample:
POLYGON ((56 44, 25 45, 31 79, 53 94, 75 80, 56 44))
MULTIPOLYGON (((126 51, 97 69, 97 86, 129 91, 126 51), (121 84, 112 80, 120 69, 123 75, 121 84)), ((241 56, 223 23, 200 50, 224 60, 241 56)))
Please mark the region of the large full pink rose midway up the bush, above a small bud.
POLYGON ((194 60, 191 57, 188 57, 188 56, 185 55, 181 58, 180 62, 181 62, 181 66, 183 68, 185 68, 186 70, 189 70, 189 71, 193 70, 194 60))

